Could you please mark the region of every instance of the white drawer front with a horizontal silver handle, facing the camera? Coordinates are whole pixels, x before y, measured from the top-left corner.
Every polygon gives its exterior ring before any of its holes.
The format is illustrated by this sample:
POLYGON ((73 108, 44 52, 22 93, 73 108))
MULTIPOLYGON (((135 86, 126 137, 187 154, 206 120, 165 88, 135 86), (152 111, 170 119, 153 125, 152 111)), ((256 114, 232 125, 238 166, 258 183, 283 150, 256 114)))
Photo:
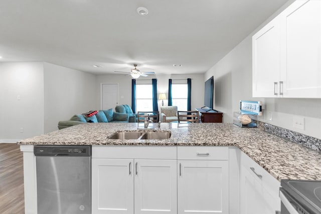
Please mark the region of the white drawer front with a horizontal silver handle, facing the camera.
POLYGON ((229 148, 224 146, 178 146, 179 160, 228 160, 229 148))

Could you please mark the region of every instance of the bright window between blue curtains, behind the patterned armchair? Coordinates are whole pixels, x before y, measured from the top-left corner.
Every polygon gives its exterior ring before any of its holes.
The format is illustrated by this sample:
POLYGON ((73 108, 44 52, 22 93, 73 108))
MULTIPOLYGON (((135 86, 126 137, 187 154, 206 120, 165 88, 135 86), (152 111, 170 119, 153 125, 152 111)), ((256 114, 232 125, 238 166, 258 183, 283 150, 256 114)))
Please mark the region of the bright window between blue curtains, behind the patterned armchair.
POLYGON ((179 111, 187 110, 187 84, 172 84, 172 103, 179 111))

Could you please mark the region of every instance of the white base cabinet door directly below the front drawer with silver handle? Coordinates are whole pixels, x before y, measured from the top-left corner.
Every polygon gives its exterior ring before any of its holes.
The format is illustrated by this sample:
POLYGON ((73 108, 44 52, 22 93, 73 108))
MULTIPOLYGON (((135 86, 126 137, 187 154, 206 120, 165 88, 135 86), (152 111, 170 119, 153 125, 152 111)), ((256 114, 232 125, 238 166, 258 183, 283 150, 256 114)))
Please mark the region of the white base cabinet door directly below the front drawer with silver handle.
POLYGON ((228 160, 178 161, 178 213, 229 213, 228 160))

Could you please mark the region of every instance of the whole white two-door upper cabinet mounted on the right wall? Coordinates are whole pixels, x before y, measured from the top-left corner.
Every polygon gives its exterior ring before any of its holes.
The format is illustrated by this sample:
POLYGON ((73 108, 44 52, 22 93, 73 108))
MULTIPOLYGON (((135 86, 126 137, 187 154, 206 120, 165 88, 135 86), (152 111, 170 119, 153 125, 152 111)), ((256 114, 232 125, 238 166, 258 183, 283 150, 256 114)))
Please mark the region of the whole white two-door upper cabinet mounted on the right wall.
POLYGON ((253 97, 321 98, 321 1, 295 1, 252 49, 253 97))

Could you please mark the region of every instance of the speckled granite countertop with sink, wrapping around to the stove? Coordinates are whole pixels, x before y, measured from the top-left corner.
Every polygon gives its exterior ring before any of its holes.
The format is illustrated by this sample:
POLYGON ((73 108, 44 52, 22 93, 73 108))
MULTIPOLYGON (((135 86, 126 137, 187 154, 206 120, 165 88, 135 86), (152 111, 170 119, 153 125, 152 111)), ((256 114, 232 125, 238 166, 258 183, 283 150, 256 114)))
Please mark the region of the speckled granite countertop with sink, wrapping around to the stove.
MULTIPOLYGON (((169 145, 237 146, 277 180, 321 180, 321 153, 259 128, 240 128, 226 123, 162 123, 171 131, 165 140, 115 140, 107 136, 119 131, 137 131, 137 123, 84 123, 19 141, 35 145, 169 145)), ((149 126, 150 126, 149 125, 149 126)))

